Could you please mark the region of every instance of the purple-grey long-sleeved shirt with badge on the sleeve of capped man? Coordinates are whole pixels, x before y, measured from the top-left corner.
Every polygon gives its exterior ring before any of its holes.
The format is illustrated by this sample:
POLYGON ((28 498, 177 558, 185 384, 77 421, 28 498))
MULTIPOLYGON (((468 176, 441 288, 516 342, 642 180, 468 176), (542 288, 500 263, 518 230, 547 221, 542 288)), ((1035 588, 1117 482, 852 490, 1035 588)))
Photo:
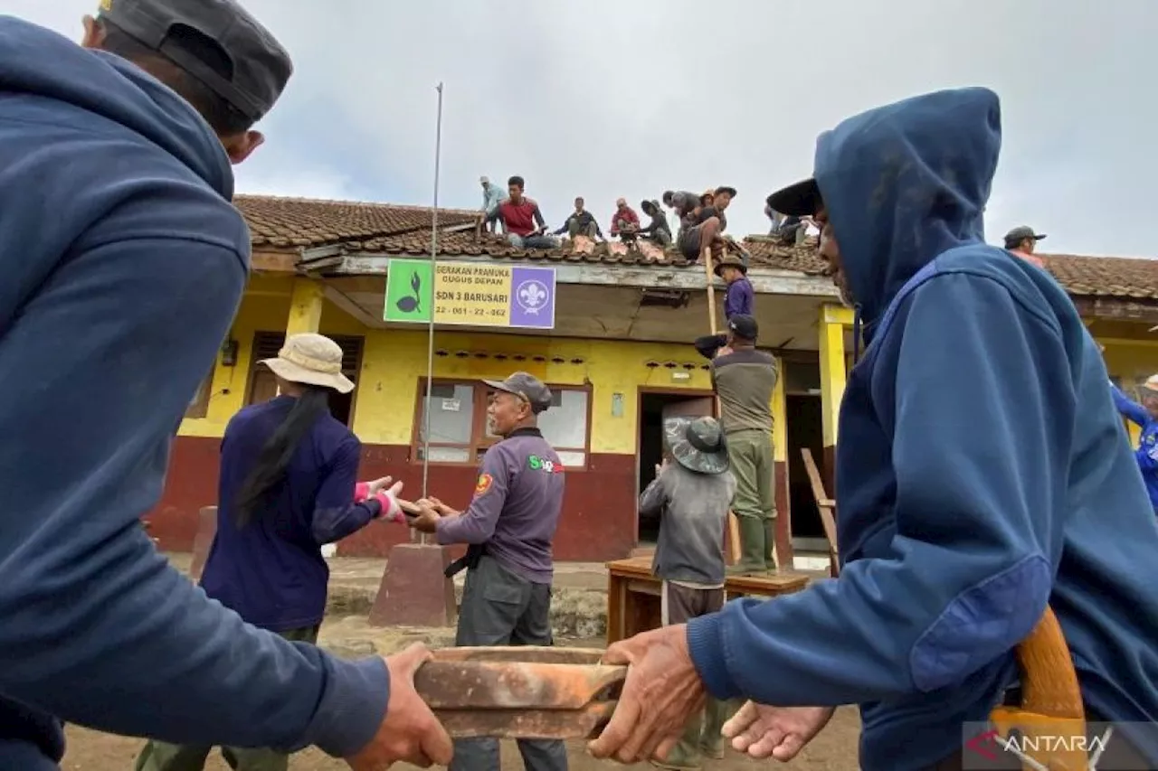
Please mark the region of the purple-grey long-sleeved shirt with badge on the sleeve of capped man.
POLYGON ((438 542, 486 544, 486 555, 507 570, 550 583, 563 486, 559 456, 537 428, 519 428, 486 450, 470 506, 439 520, 438 542))

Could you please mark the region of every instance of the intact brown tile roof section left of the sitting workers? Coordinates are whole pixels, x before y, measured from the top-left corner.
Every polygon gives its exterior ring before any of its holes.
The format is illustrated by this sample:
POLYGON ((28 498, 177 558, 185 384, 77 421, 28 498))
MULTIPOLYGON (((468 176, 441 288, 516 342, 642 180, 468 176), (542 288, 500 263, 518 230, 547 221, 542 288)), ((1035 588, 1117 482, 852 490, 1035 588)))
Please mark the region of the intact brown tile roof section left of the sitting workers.
MULTIPOLYGON (((317 247, 431 227, 428 206, 235 196, 255 247, 317 247)), ((440 208, 439 222, 474 222, 478 212, 440 208)))

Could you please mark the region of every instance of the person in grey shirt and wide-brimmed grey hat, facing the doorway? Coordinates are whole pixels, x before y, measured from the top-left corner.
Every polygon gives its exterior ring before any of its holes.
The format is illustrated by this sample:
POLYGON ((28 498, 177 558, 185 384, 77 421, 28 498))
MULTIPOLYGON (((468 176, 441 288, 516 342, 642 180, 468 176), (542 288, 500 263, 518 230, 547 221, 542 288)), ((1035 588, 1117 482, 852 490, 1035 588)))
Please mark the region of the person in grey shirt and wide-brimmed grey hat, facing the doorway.
MULTIPOLYGON (((665 421, 664 445, 664 464, 639 499, 639 515, 660 517, 652 572, 664 581, 661 617, 668 626, 724 607, 724 528, 735 479, 714 418, 665 421)), ((667 759, 655 764, 684 770, 698 768, 704 755, 724 757, 726 708, 709 698, 667 759)))

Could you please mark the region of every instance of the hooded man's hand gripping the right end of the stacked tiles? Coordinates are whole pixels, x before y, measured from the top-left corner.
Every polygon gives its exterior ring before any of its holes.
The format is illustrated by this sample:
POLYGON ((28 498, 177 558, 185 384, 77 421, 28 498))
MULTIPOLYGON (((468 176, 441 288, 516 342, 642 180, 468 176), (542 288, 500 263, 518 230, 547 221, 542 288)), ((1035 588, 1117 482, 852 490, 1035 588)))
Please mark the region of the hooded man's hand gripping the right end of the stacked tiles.
POLYGON ((616 642, 603 662, 628 664, 628 678, 610 722, 587 749, 596 758, 620 763, 667 757, 708 696, 691 662, 687 626, 665 626, 616 642))

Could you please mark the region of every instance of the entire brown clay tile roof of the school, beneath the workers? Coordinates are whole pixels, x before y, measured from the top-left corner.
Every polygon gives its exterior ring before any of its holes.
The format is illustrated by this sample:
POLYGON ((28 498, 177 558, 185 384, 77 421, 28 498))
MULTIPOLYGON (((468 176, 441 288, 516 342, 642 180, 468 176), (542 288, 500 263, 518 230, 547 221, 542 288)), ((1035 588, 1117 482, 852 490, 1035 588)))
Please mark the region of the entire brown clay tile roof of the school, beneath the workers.
MULTIPOLYGON (((234 203, 245 215, 254 247, 258 249, 305 251, 330 247, 334 254, 397 257, 430 254, 430 207, 269 196, 237 196, 234 203)), ((564 241, 549 251, 516 249, 503 236, 482 233, 481 220, 477 211, 440 208, 439 255, 570 264, 694 265, 674 249, 664 252, 651 244, 630 250, 620 242, 592 243, 580 238, 564 241)), ((768 236, 748 236, 743 245, 756 267, 805 276, 823 273, 814 237, 797 247, 783 247, 768 236)), ((1158 259, 1039 256, 1071 295, 1158 302, 1158 259)))

